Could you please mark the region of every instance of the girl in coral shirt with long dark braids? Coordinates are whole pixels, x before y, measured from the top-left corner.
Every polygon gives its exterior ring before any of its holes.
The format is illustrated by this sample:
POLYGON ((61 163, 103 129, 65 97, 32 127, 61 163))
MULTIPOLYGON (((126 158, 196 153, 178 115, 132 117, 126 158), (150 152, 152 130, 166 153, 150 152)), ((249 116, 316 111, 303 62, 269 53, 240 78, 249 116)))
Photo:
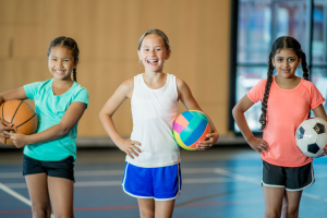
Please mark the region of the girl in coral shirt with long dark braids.
MULTIPOLYGON (((322 106, 325 99, 308 81, 305 53, 294 38, 277 38, 268 63, 268 77, 237 104, 233 117, 246 142, 261 153, 263 159, 265 218, 280 217, 281 210, 282 217, 298 217, 302 191, 315 179, 312 158, 296 147, 295 130, 307 119, 311 109, 316 117, 327 120, 322 106), (300 64, 303 78, 295 76, 300 64), (275 76, 274 69, 277 71, 275 76), (263 140, 253 135, 244 117, 244 112, 259 100, 263 105, 259 119, 263 140)), ((324 152, 326 155, 326 145, 324 152)))

